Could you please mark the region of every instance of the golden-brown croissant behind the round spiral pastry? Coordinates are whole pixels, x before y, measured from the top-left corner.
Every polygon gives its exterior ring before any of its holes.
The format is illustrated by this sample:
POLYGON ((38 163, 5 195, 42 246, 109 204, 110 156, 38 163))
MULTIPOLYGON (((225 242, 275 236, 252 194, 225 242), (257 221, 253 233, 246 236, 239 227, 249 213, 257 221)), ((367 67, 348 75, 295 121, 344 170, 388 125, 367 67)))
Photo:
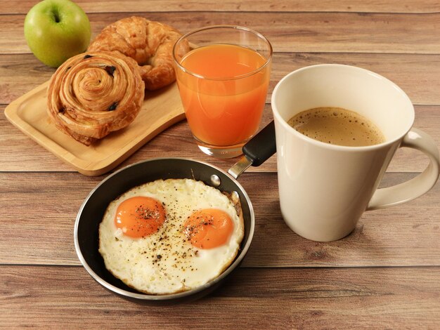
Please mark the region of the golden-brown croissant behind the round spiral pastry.
MULTIPOLYGON (((89 45, 89 51, 119 51, 138 62, 145 88, 153 91, 176 80, 172 51, 181 37, 169 25, 143 17, 123 18, 108 25, 89 45)), ((189 44, 181 56, 190 50, 189 44)))

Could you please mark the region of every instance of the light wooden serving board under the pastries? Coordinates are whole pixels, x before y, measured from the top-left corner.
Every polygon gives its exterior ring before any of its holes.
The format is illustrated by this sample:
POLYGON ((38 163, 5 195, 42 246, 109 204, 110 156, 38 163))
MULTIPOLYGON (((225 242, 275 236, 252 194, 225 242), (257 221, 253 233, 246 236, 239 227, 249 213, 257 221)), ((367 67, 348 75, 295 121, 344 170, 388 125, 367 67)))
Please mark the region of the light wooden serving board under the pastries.
POLYGON ((51 123, 46 112, 47 86, 48 81, 14 100, 4 111, 6 118, 86 176, 99 176, 114 169, 157 134, 185 118, 176 83, 159 91, 145 91, 141 111, 129 126, 87 147, 51 123))

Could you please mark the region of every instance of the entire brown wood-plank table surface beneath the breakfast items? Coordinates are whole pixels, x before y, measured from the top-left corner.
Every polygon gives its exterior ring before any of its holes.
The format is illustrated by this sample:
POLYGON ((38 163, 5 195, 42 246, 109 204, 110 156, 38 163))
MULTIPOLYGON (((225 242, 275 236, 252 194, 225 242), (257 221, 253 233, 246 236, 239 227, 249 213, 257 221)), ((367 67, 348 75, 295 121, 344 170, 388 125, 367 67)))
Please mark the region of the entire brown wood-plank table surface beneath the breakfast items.
MULTIPOLYGON (((32 55, 24 39, 23 21, 36 2, 0 2, 1 110, 54 72, 32 55)), ((181 32, 236 24, 264 34, 274 56, 261 126, 272 118, 271 91, 285 74, 306 65, 342 63, 401 86, 415 105, 415 127, 440 145, 438 0, 77 3, 89 15, 93 36, 134 13, 181 32)), ((152 157, 190 157, 225 170, 235 161, 202 154, 186 121, 153 138, 117 169, 152 157)), ((408 180, 426 165, 422 154, 399 150, 382 185, 408 180)), ((79 206, 106 176, 77 173, 0 112, 0 327, 439 329, 439 184, 407 204, 365 213, 342 240, 318 243, 283 222, 276 157, 271 157, 239 179, 254 204, 256 227, 237 272, 199 301, 158 307, 109 293, 75 253, 79 206)))

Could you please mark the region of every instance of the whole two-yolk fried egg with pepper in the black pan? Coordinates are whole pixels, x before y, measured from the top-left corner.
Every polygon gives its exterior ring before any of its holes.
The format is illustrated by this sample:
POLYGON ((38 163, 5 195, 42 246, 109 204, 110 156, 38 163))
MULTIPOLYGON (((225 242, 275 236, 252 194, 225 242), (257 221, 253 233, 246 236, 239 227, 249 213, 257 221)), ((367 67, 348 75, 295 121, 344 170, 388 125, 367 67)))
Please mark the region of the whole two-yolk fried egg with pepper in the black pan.
POLYGON ((241 212, 216 188, 191 179, 156 180, 109 204, 99 225, 99 252, 128 286, 169 294, 221 275, 243 235, 241 212))

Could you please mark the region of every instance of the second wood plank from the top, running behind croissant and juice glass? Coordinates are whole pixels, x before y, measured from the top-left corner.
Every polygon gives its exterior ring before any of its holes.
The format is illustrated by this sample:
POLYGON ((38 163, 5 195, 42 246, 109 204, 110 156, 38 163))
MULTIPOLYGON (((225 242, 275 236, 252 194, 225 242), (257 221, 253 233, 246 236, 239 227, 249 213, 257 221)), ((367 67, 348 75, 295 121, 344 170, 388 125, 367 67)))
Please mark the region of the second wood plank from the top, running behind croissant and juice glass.
MULTIPOLYGON (((368 2, 368 1, 365 1, 368 2)), ((189 32, 215 24, 244 25, 264 34, 277 52, 440 53, 440 13, 188 13, 143 12, 189 32), (191 19, 188 20, 188 17, 191 19)), ((93 36, 127 13, 91 13, 93 36)), ((25 15, 2 15, 0 53, 30 53, 22 32, 25 15)))

